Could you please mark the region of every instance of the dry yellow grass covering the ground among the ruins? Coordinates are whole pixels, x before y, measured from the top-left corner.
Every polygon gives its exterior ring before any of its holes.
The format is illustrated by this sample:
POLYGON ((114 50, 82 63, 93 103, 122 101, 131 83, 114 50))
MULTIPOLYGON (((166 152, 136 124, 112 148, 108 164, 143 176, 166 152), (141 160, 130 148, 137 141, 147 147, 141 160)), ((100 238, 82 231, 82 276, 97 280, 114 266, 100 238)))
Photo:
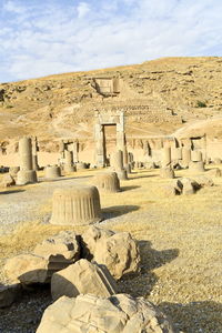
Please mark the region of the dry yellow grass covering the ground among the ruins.
MULTIPOLYGON (((78 172, 78 176, 94 172, 78 172)), ((162 185, 172 180, 158 174, 158 170, 134 172, 122 182, 122 192, 101 195, 107 218, 101 225, 131 232, 141 250, 141 273, 121 280, 120 289, 159 304, 183 332, 221 333, 222 178, 196 194, 167 198, 162 185)), ((181 175, 188 171, 176 171, 181 175)), ((51 196, 39 206, 40 214, 50 211, 51 196)), ((32 249, 61 229, 39 221, 20 223, 0 238, 1 265, 6 258, 32 249)))

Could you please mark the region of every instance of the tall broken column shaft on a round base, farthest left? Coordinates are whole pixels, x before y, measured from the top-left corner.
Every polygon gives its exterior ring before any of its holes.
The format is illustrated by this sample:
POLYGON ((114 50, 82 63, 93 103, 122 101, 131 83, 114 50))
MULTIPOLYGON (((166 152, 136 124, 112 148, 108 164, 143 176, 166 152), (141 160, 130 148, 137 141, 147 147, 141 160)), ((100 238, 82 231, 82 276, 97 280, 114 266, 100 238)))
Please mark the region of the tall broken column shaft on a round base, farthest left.
POLYGON ((19 141, 20 171, 17 175, 17 185, 37 182, 37 172, 32 170, 32 143, 30 138, 19 141))

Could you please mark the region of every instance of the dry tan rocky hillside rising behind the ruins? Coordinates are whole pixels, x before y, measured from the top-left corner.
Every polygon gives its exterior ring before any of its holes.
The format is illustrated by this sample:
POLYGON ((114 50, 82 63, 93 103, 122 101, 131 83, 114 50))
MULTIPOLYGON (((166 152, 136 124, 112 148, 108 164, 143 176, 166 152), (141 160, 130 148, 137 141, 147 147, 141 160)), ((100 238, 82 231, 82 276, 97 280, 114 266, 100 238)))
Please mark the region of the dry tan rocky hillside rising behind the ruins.
POLYGON ((222 58, 165 58, 1 83, 1 148, 16 150, 24 134, 38 137, 46 151, 57 151, 60 139, 78 138, 87 145, 93 140, 95 110, 123 110, 129 140, 220 117, 222 58))

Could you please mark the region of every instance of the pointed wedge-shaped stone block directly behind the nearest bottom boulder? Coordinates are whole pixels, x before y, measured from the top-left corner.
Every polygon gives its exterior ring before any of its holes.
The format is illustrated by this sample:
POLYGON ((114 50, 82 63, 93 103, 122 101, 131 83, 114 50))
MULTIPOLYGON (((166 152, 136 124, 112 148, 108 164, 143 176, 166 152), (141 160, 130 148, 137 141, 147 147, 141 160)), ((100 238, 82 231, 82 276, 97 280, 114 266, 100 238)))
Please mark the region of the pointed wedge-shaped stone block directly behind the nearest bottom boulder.
POLYGON ((105 266, 81 259, 69 268, 54 273, 51 280, 52 299, 79 294, 109 296, 117 293, 117 284, 105 266))

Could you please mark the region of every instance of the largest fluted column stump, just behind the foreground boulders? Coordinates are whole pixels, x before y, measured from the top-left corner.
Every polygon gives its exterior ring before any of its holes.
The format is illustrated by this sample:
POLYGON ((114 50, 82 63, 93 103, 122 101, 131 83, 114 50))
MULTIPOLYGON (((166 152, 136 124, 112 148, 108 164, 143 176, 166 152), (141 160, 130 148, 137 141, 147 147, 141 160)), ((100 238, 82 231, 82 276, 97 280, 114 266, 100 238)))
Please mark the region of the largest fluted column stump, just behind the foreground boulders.
POLYGON ((95 186, 75 185, 54 191, 50 223, 82 225, 101 220, 100 195, 95 186))

